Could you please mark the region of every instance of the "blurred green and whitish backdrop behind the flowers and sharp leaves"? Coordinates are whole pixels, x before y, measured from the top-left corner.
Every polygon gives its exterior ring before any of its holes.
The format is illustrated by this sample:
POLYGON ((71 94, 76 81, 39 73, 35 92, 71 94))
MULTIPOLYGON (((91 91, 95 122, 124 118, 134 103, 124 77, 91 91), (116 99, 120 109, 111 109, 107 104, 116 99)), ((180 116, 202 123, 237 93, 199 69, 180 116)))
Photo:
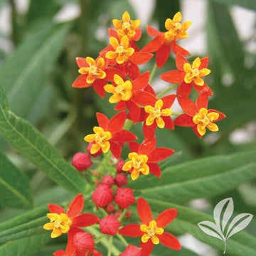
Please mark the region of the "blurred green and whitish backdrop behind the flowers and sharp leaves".
MULTIPOLYGON (((193 22, 188 29, 190 37, 181 45, 191 51, 189 60, 198 55, 210 56, 211 73, 206 82, 214 97, 209 107, 227 115, 218 123, 217 134, 207 132, 200 140, 191 129, 177 127, 175 131, 158 132, 158 145, 181 151, 176 163, 256 150, 255 0, 152 0, 137 1, 137 4, 125 0, 31 0, 24 3, 27 8, 21 10, 18 1, 0 0, 0 16, 8 16, 6 26, 11 28, 10 33, 0 31, 0 83, 11 111, 41 131, 68 161, 76 152, 85 151, 87 145, 82 138, 96 124, 95 112, 109 117, 113 114, 107 97, 102 100, 92 88, 71 87, 78 76, 75 57, 97 58, 99 51, 107 46, 107 28, 112 26, 112 19, 121 19, 124 11, 129 11, 132 19, 143 18, 140 47, 151 40, 146 34, 146 21, 164 31, 166 18, 181 11, 183 21, 193 22), (143 9, 147 4, 148 9, 143 9), (68 18, 69 12, 71 18, 68 18)), ((142 70, 151 70, 153 65, 154 60, 142 70)), ((174 58, 157 70, 156 75, 172 69, 176 69, 174 58)), ((167 84, 154 80, 153 86, 159 90, 167 84)), ((140 127, 135 130, 141 133, 140 127)), ((0 149, 28 176, 36 206, 72 197, 1 137, 0 149)), ((256 155, 252 154, 253 157, 256 159, 256 155)), ((203 208, 212 214, 210 205, 215 206, 226 197, 233 197, 237 212, 255 214, 255 179, 208 201, 193 201, 186 206, 203 208)), ((3 205, 0 218, 5 220, 18 213, 21 210, 3 205)), ((255 235, 255 227, 253 223, 248 232, 255 235)), ((50 255, 47 254, 53 250, 50 246, 58 248, 49 245, 36 255, 50 255)))

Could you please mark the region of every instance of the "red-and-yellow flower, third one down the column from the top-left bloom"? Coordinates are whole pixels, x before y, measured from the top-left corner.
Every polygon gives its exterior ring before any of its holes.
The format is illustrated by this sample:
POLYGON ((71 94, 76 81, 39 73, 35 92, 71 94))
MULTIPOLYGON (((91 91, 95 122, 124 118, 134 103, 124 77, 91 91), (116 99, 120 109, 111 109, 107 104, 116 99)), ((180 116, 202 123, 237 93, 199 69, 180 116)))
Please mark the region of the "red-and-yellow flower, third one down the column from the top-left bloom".
POLYGON ((119 75, 114 75, 113 85, 105 85, 104 89, 112 93, 110 103, 117 103, 114 110, 125 110, 128 108, 129 116, 136 124, 140 117, 139 105, 146 106, 153 102, 156 97, 151 93, 143 91, 149 82, 149 72, 145 72, 138 78, 124 81, 119 75))

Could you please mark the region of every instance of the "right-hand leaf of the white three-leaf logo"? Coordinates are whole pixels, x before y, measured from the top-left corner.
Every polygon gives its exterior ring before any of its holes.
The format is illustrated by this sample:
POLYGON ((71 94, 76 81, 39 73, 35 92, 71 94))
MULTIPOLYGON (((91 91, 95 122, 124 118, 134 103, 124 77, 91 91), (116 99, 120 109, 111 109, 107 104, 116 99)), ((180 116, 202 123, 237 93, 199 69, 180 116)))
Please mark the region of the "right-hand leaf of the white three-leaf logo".
POLYGON ((226 239, 228 240, 228 238, 230 238, 232 235, 235 235, 236 233, 245 229, 247 227, 247 225, 249 225, 249 223, 251 222, 252 217, 253 217, 253 215, 250 213, 241 213, 241 214, 235 216, 235 218, 233 218, 233 220, 231 221, 231 223, 228 227, 228 232, 227 232, 228 236, 226 239), (242 220, 242 218, 245 218, 245 219, 242 220), (242 221, 238 225, 236 225, 239 220, 242 220, 242 221))

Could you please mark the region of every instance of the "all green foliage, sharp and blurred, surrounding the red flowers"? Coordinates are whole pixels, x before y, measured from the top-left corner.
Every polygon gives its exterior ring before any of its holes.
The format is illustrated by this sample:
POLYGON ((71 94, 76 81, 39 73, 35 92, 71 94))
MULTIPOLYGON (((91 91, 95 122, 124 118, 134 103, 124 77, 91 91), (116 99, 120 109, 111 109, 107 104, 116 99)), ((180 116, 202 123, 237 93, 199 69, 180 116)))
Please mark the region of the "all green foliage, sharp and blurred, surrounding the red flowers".
MULTIPOLYGON (((204 235, 196 223, 212 220, 213 207, 226 197, 233 197, 238 213, 256 212, 256 55, 248 48, 255 43, 256 30, 251 31, 250 38, 241 40, 232 15, 233 6, 255 11, 255 3, 208 1, 204 30, 206 55, 210 56, 209 85, 215 94, 209 105, 227 115, 219 123, 220 132, 202 140, 191 129, 181 127, 157 132, 158 145, 177 153, 162 163, 164 180, 151 177, 134 183, 137 195, 144 193, 156 213, 163 207, 178 208, 178 219, 169 228, 171 233, 189 233, 220 251, 222 244, 204 235), (236 144, 231 139, 238 129, 247 134, 249 142, 236 144), (202 197, 210 203, 210 215, 190 206, 192 199, 202 197)), ((154 4, 150 23, 164 31, 164 21, 181 9, 181 1, 156 0, 154 4)), ((46 203, 63 203, 73 197, 68 191, 84 191, 82 180, 67 161, 75 152, 85 151, 87 145, 82 138, 96 124, 95 112, 108 117, 113 114, 107 99, 97 97, 91 88, 71 87, 78 76, 75 57, 97 57, 107 45, 112 18, 121 18, 124 11, 129 11, 132 19, 139 17, 128 0, 31 0, 25 13, 18 12, 14 0, 0 0, 0 8, 4 5, 11 8, 12 32, 6 36, 0 31, 0 39, 13 49, 7 53, 0 46, 0 217, 6 220, 0 223, 0 255, 50 255, 65 247, 65 240, 49 243, 49 235, 41 228, 46 203), (66 4, 75 5, 80 14, 72 21, 57 21, 56 15, 66 4)), ((142 29, 139 46, 151 40, 142 29)), ((195 57, 192 53, 189 59, 195 57)), ((152 66, 151 62, 142 69, 150 70, 152 66)), ((171 69, 175 69, 173 59, 156 75, 171 69)), ((133 127, 140 140, 141 128, 133 127)), ((228 255, 256 255, 255 226, 254 222, 252 228, 247 228, 251 235, 242 232, 234 236, 228 255)), ((174 254, 159 248, 155 255, 196 255, 186 248, 174 254)))

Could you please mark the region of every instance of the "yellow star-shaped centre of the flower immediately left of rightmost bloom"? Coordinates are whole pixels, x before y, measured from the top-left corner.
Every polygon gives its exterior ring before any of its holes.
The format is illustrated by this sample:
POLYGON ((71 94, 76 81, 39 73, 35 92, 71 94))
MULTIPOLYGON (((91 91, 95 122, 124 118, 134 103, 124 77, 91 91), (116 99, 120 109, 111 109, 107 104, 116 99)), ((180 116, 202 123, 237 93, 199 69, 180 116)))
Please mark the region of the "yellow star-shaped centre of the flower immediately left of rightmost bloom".
POLYGON ((170 109, 164 109, 163 107, 164 102, 162 100, 157 100, 154 107, 152 106, 146 106, 144 108, 146 113, 149 113, 149 116, 146 117, 146 125, 149 126, 154 123, 154 120, 156 119, 156 124, 159 128, 164 128, 164 119, 162 117, 168 117, 171 115, 172 111, 170 109))

